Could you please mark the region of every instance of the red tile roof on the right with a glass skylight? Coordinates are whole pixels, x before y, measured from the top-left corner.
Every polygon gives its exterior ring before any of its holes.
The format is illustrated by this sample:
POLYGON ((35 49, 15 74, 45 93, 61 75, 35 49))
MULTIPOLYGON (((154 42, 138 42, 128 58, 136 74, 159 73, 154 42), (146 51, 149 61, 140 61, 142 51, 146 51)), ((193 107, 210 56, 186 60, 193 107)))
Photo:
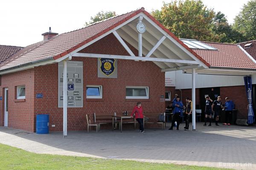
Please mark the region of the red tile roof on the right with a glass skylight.
POLYGON ((217 50, 193 49, 193 51, 205 59, 211 67, 256 69, 256 63, 254 63, 236 44, 204 43, 217 50))

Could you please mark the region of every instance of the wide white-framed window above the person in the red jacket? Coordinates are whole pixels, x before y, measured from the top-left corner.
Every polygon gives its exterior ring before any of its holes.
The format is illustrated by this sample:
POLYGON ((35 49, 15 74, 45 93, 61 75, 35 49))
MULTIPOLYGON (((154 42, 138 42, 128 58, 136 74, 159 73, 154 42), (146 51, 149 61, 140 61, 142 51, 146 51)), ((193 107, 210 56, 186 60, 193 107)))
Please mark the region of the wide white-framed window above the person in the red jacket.
POLYGON ((127 86, 126 99, 148 99, 148 87, 127 86))

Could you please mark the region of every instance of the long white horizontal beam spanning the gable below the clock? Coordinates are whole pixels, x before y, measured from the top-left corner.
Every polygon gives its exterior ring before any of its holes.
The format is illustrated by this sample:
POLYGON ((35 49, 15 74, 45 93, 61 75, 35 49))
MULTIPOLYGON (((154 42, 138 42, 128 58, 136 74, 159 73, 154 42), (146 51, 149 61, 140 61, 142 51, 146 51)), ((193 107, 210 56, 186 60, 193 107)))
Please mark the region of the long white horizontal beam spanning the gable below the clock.
POLYGON ((174 63, 183 63, 183 64, 198 64, 197 61, 191 61, 191 60, 151 58, 151 57, 132 57, 132 56, 119 56, 119 55, 110 55, 110 54, 76 53, 76 54, 73 54, 73 57, 112 58, 112 59, 129 59, 129 60, 158 61, 158 62, 174 62, 174 63))

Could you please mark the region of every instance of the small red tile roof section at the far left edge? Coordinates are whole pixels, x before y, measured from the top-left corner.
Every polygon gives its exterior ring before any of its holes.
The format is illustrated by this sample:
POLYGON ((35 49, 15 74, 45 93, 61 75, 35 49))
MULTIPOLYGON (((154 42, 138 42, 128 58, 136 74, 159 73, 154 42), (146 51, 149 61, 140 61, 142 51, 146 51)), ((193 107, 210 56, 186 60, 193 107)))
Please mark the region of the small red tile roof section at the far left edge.
POLYGON ((23 47, 11 46, 11 45, 0 45, 0 63, 11 57, 17 51, 20 51, 23 47))

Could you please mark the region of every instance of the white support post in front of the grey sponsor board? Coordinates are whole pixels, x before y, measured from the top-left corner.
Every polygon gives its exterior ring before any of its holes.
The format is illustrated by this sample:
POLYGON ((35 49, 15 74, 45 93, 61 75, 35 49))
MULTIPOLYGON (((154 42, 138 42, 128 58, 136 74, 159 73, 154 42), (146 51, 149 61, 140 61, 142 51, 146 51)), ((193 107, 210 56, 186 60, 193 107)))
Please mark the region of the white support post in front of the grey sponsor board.
POLYGON ((63 61, 63 136, 67 136, 67 61, 63 61))

